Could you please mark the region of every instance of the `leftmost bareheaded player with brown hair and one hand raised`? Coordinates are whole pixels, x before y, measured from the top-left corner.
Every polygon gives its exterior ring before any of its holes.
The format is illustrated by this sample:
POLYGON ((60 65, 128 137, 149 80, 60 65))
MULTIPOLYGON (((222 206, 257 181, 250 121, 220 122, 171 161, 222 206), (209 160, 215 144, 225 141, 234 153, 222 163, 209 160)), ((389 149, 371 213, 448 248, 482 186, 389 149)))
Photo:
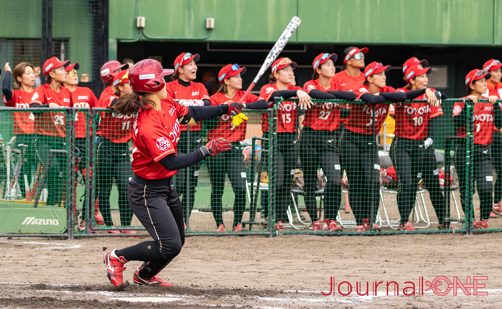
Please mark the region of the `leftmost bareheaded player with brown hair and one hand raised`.
MULTIPOLYGON (((19 89, 11 89, 11 67, 9 62, 5 64, 5 77, 2 81, 2 99, 7 107, 27 108, 30 107, 35 85, 35 73, 33 65, 28 62, 21 62, 14 68, 14 85, 19 89)), ((5 114, 4 114, 5 115, 5 114)), ((35 160, 34 142, 35 137, 35 115, 32 112, 13 112, 14 134, 16 134, 15 145, 25 144, 26 162, 21 167, 21 176, 27 175, 31 179, 32 165, 37 166, 35 160)), ((23 198, 26 197, 25 182, 19 182, 19 188, 23 198)))

